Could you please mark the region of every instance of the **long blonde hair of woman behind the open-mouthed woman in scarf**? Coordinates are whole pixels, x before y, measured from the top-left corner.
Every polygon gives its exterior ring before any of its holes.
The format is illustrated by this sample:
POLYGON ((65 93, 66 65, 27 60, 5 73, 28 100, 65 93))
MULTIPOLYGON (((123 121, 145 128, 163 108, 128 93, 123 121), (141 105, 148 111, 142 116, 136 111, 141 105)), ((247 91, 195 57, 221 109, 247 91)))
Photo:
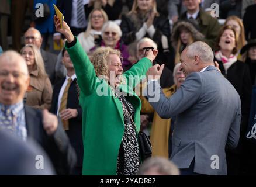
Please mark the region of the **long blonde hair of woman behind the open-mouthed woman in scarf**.
MULTIPOLYGON (((234 20, 238 23, 238 25, 240 26, 240 29, 241 29, 241 33, 237 39, 237 50, 241 50, 241 48, 243 46, 245 46, 246 44, 246 40, 245 40, 245 31, 244 31, 244 24, 243 24, 243 21, 238 18, 237 16, 229 16, 227 19, 226 19, 226 22, 224 23, 224 25, 227 25, 227 22, 229 22, 230 20, 234 20)), ((238 33, 237 33, 238 35, 238 33)))

